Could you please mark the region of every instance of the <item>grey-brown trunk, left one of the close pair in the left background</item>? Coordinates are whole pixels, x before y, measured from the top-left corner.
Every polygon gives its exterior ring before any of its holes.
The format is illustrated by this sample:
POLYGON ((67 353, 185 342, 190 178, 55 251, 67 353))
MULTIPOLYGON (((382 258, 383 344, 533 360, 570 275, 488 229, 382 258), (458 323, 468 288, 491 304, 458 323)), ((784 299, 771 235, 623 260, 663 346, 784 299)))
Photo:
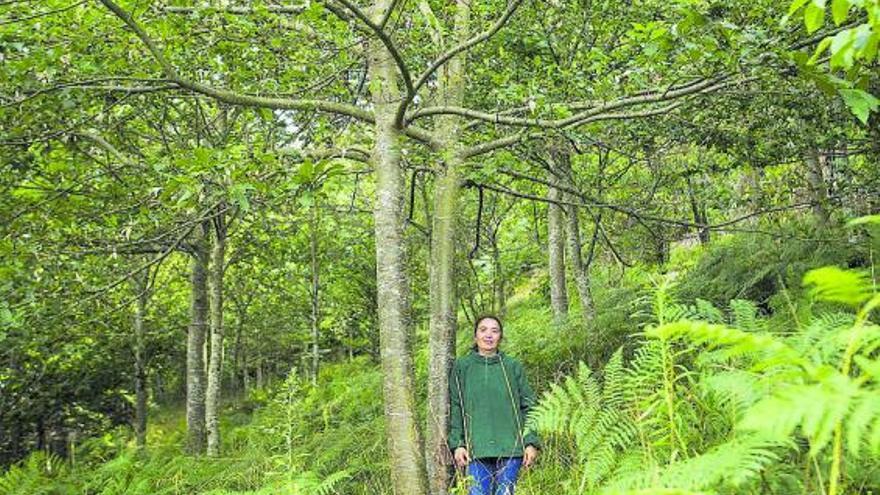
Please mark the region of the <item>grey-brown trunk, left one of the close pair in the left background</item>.
POLYGON ((205 329, 208 326, 207 229, 196 228, 193 239, 190 324, 186 339, 186 450, 205 451, 205 329))

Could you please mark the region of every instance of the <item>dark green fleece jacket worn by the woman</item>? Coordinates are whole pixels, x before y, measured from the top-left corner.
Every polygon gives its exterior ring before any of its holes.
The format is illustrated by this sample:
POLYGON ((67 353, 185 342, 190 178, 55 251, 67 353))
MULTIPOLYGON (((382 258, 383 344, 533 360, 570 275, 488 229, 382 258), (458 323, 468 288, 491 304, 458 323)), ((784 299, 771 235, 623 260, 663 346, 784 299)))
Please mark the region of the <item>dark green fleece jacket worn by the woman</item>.
POLYGON ((455 360, 449 375, 449 449, 467 447, 472 459, 520 457, 526 445, 539 447, 525 420, 535 405, 522 364, 498 352, 477 351, 455 360))

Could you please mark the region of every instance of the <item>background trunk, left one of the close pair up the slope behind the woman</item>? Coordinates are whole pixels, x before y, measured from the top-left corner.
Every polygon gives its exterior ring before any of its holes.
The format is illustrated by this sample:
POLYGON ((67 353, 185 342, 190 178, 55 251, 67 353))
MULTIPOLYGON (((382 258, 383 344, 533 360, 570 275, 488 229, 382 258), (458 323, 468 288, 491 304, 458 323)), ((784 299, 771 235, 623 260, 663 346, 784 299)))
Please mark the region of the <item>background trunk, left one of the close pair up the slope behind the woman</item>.
MULTIPOLYGON (((550 181, 555 183, 556 177, 550 174, 550 181)), ((565 286, 565 235, 563 231, 562 207, 557 204, 562 200, 562 193, 556 187, 549 187, 547 199, 547 253, 548 274, 550 276, 550 308, 553 310, 553 321, 556 325, 568 319, 568 292, 565 286)))

